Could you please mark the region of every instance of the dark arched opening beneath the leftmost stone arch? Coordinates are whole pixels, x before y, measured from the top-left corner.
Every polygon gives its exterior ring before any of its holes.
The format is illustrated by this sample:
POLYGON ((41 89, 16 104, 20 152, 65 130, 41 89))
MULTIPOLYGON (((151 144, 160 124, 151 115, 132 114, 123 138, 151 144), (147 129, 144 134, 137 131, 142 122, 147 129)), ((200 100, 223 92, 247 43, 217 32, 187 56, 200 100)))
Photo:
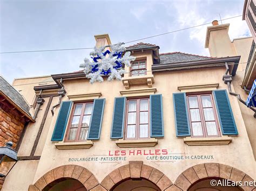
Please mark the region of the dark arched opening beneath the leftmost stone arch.
POLYGON ((47 185, 43 191, 87 191, 84 185, 72 178, 61 178, 47 185))

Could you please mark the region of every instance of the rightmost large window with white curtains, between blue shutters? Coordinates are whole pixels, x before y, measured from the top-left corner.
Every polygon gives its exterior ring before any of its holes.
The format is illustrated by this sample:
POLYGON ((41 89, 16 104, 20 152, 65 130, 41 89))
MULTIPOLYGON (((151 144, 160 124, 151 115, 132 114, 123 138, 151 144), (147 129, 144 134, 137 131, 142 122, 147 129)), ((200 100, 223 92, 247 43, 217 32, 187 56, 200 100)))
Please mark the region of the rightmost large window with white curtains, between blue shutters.
POLYGON ((187 95, 192 137, 219 137, 212 94, 187 95))

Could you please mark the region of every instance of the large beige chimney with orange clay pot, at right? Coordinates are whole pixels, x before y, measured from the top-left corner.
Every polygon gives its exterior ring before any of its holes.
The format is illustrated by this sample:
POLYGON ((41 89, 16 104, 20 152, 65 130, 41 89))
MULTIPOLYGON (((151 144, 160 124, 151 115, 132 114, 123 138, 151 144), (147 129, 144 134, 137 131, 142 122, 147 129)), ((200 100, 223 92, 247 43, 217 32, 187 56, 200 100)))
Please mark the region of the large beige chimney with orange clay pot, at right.
POLYGON ((218 20, 213 20, 213 26, 207 27, 205 48, 208 48, 211 56, 236 55, 233 43, 228 36, 230 24, 219 25, 218 20))

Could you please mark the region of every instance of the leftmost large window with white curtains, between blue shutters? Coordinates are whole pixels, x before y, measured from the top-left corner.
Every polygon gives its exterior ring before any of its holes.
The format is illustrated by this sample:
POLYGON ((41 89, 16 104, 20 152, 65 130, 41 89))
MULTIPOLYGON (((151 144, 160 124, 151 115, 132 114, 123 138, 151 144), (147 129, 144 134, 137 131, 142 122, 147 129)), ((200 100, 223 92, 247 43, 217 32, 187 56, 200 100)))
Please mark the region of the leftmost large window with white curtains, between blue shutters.
POLYGON ((74 104, 69 128, 66 132, 67 142, 78 142, 87 139, 92 108, 93 103, 74 104))

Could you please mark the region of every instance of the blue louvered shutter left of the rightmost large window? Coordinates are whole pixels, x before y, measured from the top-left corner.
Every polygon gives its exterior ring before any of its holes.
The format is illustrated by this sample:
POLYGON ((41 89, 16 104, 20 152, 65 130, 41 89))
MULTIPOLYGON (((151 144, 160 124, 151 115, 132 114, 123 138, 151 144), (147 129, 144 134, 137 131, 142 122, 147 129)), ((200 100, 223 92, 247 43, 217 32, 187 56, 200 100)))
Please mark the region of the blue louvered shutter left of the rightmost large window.
POLYGON ((190 136, 190 121, 187 112, 186 93, 173 93, 176 136, 190 136))

